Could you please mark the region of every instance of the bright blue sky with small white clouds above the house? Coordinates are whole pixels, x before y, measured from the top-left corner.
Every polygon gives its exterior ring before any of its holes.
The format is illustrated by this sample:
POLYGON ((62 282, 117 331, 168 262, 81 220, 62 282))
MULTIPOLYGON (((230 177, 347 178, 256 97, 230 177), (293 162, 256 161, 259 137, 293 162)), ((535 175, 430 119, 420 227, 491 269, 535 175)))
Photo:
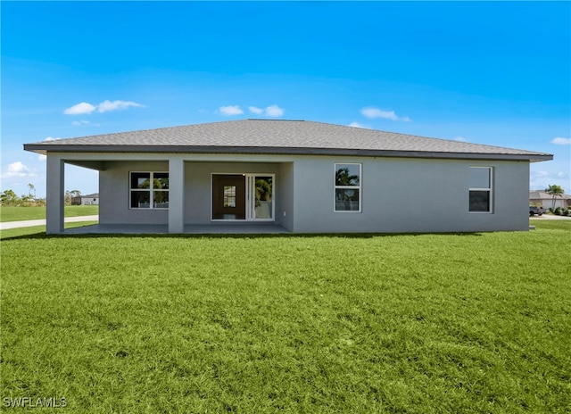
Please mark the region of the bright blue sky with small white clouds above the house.
MULTIPOLYGON (((246 118, 553 153, 571 193, 569 2, 6 2, 1 189, 46 193, 22 144, 246 118)), ((390 179, 390 178, 385 178, 390 179)), ((67 189, 97 174, 67 167, 67 189)))

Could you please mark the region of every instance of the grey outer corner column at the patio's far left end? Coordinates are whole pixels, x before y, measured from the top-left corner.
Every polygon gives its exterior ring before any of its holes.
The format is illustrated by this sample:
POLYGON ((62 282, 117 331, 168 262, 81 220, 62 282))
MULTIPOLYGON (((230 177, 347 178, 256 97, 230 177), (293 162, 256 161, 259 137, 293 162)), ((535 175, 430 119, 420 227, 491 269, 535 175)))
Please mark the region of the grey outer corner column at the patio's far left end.
POLYGON ((65 162, 59 155, 47 154, 46 166, 46 234, 63 233, 63 186, 65 162))

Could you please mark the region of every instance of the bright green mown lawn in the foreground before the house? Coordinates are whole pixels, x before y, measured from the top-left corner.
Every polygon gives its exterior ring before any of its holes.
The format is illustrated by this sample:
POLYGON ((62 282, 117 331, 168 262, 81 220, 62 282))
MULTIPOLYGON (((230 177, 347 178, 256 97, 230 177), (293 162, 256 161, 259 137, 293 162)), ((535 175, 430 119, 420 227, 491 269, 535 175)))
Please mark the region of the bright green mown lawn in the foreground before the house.
POLYGON ((3 233, 0 403, 569 412, 571 223, 532 224, 466 235, 3 233))

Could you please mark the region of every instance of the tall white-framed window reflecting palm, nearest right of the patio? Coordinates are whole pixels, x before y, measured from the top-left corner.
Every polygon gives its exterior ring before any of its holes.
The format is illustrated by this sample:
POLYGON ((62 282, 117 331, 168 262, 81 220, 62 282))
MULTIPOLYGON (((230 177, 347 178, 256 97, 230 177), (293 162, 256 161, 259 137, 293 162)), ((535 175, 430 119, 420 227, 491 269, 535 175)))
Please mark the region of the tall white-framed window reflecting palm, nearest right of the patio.
POLYGON ((360 164, 335 164, 335 211, 360 212, 360 164))

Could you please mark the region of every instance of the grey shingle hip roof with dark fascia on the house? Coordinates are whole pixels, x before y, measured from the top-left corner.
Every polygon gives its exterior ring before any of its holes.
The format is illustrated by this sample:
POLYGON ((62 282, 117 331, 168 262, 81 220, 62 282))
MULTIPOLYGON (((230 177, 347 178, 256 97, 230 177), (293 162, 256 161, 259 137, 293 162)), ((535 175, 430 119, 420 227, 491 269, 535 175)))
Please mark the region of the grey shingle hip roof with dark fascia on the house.
POLYGON ((231 120, 25 144, 36 153, 291 153, 546 161, 548 153, 305 120, 231 120))

